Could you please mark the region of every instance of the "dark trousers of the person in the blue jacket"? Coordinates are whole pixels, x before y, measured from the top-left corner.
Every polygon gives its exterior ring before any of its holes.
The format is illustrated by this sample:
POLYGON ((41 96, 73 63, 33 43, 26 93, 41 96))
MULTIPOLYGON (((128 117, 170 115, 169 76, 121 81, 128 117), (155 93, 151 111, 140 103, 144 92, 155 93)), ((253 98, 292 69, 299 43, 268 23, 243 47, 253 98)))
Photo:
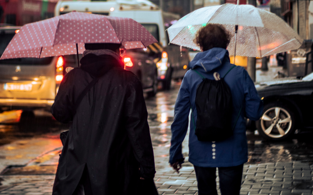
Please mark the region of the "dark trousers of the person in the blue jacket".
MULTIPOLYGON (((216 167, 194 166, 199 195, 217 195, 216 167)), ((235 167, 219 167, 219 187, 222 195, 239 195, 244 165, 235 167)))

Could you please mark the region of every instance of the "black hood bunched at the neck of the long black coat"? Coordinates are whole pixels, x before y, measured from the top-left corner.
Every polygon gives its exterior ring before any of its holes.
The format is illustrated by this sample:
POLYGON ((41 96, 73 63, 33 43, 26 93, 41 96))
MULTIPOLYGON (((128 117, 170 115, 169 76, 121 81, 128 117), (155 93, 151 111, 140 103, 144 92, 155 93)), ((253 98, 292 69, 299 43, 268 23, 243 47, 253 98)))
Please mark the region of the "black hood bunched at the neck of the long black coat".
POLYGON ((95 54, 87 54, 86 56, 81 58, 80 64, 81 69, 95 77, 104 75, 113 67, 124 67, 122 61, 118 61, 110 55, 97 56, 95 54))

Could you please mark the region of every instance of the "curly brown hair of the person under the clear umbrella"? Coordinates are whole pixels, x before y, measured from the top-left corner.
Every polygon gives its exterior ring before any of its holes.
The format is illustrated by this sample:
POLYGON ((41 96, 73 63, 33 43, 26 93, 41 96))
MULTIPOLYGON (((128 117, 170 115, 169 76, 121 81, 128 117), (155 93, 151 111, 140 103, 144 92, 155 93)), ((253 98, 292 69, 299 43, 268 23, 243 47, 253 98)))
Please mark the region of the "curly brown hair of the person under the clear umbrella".
POLYGON ((196 38, 193 40, 202 51, 207 51, 213 47, 226 49, 230 42, 229 32, 219 24, 207 24, 200 28, 196 38))

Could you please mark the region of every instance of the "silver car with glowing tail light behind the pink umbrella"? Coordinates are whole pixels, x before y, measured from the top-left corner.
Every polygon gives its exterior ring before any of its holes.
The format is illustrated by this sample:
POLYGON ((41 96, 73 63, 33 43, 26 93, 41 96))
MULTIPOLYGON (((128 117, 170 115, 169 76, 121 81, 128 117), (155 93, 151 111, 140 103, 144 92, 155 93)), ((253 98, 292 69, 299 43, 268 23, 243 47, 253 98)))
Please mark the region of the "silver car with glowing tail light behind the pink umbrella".
MULTIPOLYGON (((0 27, 0 55, 20 27, 0 27)), ((77 57, 16 58, 0 60, 0 109, 50 110, 67 66, 77 57)))

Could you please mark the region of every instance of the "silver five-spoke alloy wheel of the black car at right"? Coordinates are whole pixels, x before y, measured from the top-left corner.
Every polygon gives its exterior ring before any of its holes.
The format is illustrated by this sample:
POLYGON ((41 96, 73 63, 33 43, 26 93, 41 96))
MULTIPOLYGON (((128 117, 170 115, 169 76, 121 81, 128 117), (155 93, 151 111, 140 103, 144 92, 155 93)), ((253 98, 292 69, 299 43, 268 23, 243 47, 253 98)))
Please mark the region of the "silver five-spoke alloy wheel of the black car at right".
POLYGON ((293 130, 292 118, 290 111, 280 106, 270 107, 260 119, 262 133, 272 139, 286 138, 293 130))

